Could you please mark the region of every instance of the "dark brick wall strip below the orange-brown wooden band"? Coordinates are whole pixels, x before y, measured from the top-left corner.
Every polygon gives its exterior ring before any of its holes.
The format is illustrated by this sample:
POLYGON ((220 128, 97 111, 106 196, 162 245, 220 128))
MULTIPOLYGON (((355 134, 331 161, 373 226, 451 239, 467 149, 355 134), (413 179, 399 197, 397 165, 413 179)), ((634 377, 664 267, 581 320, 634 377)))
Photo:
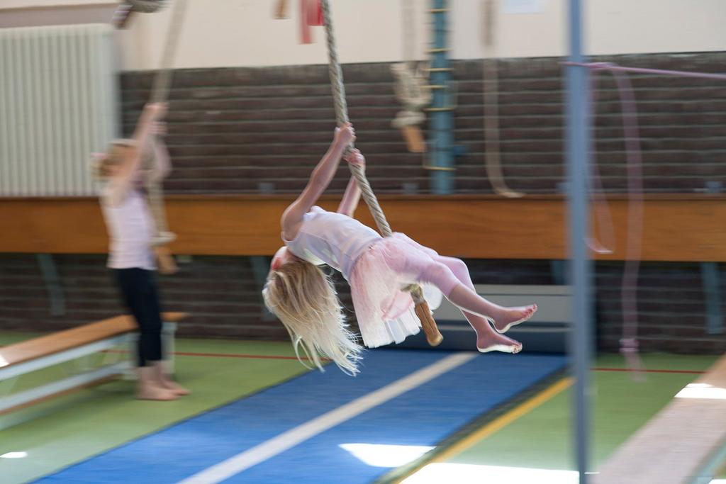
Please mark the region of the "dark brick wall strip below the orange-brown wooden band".
MULTIPOLYGON (((121 313, 118 292, 105 258, 55 255, 65 295, 65 313, 52 316, 41 270, 34 255, 0 255, 0 329, 54 331, 121 313)), ((549 261, 468 261, 477 284, 555 284, 549 261)), ((621 263, 596 268, 597 342, 617 350, 621 332, 621 263)), ((640 276, 640 343, 643 350, 722 353, 726 335, 706 334, 706 307, 700 267, 689 263, 645 263, 640 276)), ((726 280, 726 266, 720 274, 726 280)), ((176 276, 160 279, 163 303, 187 311, 181 335, 285 340, 280 323, 264 318, 250 260, 194 257, 176 276)), ((341 299, 351 308, 345 284, 341 299)), ((722 287, 726 300, 726 286, 722 287)), ((527 303, 529 301, 523 301, 527 303)), ((726 311, 726 308, 723 308, 726 311)), ((352 312, 351 312, 352 317, 352 312)))

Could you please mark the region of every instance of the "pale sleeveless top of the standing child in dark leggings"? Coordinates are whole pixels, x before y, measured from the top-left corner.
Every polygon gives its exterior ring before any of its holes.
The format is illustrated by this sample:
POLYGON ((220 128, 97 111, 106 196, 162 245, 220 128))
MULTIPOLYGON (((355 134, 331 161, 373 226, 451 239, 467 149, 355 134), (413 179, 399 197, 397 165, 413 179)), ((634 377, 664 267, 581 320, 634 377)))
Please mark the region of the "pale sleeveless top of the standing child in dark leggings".
POLYGON ((107 266, 154 270, 156 265, 151 250, 154 221, 144 195, 132 188, 122 200, 112 200, 110 187, 107 186, 101 195, 101 208, 110 239, 107 266))

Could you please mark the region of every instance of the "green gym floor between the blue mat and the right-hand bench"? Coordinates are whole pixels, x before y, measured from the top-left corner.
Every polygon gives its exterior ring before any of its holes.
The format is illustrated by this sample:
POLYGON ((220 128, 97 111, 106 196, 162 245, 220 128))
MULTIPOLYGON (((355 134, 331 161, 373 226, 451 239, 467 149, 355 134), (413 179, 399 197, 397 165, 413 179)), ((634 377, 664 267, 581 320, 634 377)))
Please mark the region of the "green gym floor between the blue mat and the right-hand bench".
MULTIPOLYGON (((696 373, 680 372, 702 372, 716 359, 715 356, 644 355, 646 368, 664 372, 649 372, 645 381, 637 382, 628 372, 613 371, 626 368, 619 355, 598 357, 594 366, 597 370, 592 372, 595 403, 592 409, 592 460, 595 468, 666 406, 673 395, 698 377, 696 373)), ((432 469, 423 469, 420 475, 433 475, 431 471, 440 465, 439 462, 444 464, 442 470, 449 475, 457 467, 466 470, 470 466, 572 471, 576 466, 571 445, 571 398, 570 382, 567 379, 544 388, 523 401, 522 405, 499 417, 499 422, 494 419, 488 426, 483 426, 478 432, 446 449, 443 455, 434 459, 436 462, 431 464, 432 469), (454 466, 447 470, 445 464, 454 466)), ((476 474, 476 467, 471 467, 471 472, 476 474)), ((465 472, 462 477, 466 475, 465 472)), ((512 477, 512 474, 507 476, 512 477)), ((566 474, 552 476, 551 482, 558 483, 563 482, 562 477, 566 474)), ((726 465, 719 478, 726 479, 726 465)), ((426 481, 410 478, 404 482, 416 484, 426 481)), ((479 481, 461 480, 457 484, 469 482, 479 481)), ((507 482, 519 481, 510 478, 507 482)), ((539 484, 550 483, 550 480, 541 478, 523 482, 539 484)))

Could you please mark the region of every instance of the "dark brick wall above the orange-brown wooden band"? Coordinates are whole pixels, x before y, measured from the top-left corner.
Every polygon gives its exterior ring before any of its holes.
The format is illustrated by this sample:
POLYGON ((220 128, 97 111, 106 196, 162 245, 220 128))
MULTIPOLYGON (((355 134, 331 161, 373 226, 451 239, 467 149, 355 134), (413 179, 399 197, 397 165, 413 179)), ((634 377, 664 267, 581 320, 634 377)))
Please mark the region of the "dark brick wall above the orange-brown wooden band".
MULTIPOLYGON (((662 69, 719 71, 726 53, 647 54, 596 60, 662 69)), ((502 163, 513 188, 551 193, 563 181, 563 83, 559 58, 500 60, 502 163)), ((351 119, 368 175, 378 192, 404 182, 428 192, 420 155, 409 154, 390 127, 399 107, 386 64, 346 65, 351 119)), ((484 171, 481 61, 454 62, 456 191, 489 192, 484 171)), ((123 76, 126 131, 148 97, 151 76, 123 76)), ((640 113, 645 188, 693 192, 726 176, 726 86, 718 81, 633 75, 640 113)), ((624 141, 617 91, 600 75, 597 160, 605 189, 623 191, 624 141)), ((171 192, 256 192, 261 182, 278 191, 301 189, 325 151, 333 128, 333 101, 325 66, 181 70, 174 77, 169 114, 176 170, 171 192)), ((341 169, 333 190, 342 190, 341 169)))

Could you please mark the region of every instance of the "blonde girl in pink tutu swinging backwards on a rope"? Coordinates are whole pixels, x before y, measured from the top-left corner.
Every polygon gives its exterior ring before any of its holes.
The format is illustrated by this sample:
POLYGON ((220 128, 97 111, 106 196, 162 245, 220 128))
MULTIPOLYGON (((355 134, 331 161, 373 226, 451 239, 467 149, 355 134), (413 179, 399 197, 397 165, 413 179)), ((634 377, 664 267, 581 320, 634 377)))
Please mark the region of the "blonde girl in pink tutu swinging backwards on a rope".
POLYGON ((319 266, 340 271, 351 294, 363 343, 375 348, 401 343, 419 332, 414 303, 404 287, 424 284, 429 305, 438 307, 441 293, 457 305, 476 331, 482 353, 518 353, 521 343, 502 333, 529 319, 537 305, 504 308, 481 298, 474 290, 468 268, 456 258, 444 257, 404 234, 380 237, 352 218, 361 192, 351 177, 337 213, 315 206, 325 192, 341 157, 364 167, 357 150, 343 155, 355 140, 350 123, 335 130, 335 138, 314 169, 307 186, 282 214, 285 246, 274 255, 262 295, 293 340, 295 353, 303 351, 322 369, 319 356, 327 356, 340 369, 356 374, 362 347, 348 329, 335 287, 319 266))

